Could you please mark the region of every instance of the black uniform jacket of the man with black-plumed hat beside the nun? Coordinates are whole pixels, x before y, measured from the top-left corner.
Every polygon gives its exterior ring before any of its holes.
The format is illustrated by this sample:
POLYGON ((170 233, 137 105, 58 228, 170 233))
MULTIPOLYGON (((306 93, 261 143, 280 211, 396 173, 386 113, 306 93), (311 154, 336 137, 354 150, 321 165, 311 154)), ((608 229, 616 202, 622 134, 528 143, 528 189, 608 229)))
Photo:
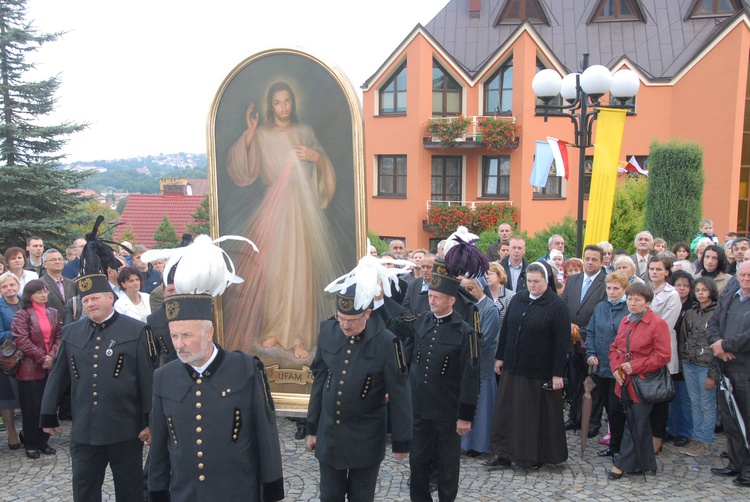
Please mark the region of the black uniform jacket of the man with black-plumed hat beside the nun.
POLYGON ((481 377, 476 331, 455 310, 440 320, 432 313, 393 319, 384 310, 377 309, 386 324, 399 337, 414 340, 410 366, 414 415, 426 420, 473 420, 481 377))

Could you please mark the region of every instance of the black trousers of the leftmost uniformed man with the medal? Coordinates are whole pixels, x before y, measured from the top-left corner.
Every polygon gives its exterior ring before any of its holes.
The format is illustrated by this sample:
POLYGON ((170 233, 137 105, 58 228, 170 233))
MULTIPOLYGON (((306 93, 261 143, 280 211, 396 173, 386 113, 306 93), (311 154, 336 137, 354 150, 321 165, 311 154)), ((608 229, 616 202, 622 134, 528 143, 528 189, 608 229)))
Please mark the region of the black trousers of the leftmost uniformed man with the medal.
POLYGON ((143 443, 138 438, 94 446, 70 441, 73 500, 101 502, 107 464, 112 470, 117 502, 143 500, 143 443))

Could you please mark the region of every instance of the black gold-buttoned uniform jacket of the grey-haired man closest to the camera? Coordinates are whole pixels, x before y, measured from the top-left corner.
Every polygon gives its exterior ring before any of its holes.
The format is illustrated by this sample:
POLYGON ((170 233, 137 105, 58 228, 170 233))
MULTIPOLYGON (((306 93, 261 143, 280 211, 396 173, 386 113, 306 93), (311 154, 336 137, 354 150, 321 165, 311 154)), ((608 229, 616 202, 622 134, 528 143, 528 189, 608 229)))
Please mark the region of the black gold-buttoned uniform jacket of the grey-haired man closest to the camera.
POLYGON ((263 363, 215 350, 202 376, 181 361, 154 373, 151 500, 281 500, 281 450, 263 363))

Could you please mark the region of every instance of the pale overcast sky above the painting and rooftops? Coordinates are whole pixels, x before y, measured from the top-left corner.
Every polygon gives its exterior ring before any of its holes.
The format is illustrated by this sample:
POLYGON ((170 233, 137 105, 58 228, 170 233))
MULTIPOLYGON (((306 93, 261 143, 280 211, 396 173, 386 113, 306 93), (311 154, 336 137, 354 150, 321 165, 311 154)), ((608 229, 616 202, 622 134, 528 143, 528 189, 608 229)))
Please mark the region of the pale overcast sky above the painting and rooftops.
POLYGON ((89 122, 67 160, 203 152, 208 111, 248 56, 293 47, 337 65, 359 87, 417 23, 447 0, 29 0, 39 31, 65 31, 35 59, 59 74, 51 120, 89 122))

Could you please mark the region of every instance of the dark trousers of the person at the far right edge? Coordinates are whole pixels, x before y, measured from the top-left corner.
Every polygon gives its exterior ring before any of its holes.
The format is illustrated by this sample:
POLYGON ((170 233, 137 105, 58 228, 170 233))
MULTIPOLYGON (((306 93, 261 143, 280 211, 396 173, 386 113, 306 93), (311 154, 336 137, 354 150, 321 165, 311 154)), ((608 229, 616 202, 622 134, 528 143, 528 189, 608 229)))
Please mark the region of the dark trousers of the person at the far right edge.
MULTIPOLYGON (((745 428, 750 434, 750 374, 732 369, 731 366, 727 364, 724 373, 732 382, 734 399, 745 421, 745 428)), ((727 467, 743 476, 750 476, 750 453, 745 448, 742 432, 729 412, 724 391, 720 390, 718 393, 720 394, 719 413, 721 413, 721 423, 724 425, 724 432, 727 435, 727 452, 729 453, 729 465, 727 467)))

